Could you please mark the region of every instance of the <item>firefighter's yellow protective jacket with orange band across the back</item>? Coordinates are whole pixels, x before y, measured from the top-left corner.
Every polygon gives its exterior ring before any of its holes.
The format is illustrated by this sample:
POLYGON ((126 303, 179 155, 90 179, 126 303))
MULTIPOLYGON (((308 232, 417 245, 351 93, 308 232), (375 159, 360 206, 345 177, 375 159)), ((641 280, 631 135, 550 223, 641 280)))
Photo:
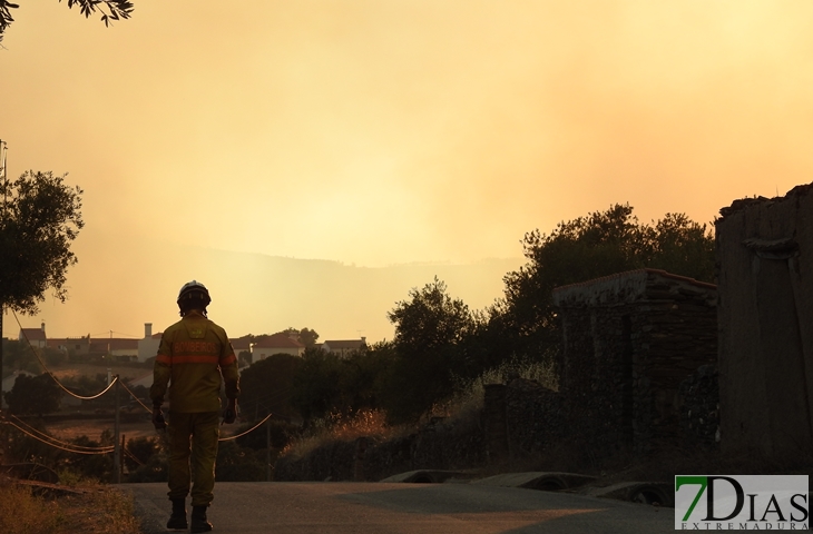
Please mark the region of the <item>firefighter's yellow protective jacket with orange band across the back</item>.
POLYGON ((237 398, 237 358, 226 330, 190 312, 164 332, 149 388, 154 406, 164 402, 168 385, 173 412, 218 412, 222 379, 226 397, 237 398))

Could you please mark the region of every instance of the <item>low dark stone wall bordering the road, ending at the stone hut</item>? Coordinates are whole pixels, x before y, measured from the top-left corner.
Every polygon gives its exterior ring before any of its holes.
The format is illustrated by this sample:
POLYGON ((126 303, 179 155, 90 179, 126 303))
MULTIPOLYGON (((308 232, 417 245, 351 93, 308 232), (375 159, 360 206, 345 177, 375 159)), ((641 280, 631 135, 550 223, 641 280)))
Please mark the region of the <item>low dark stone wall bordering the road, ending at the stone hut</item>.
POLYGON ((415 469, 470 469, 550 451, 570 434, 558 393, 522 378, 487 389, 498 394, 487 397, 480 414, 437 418, 415 434, 389 441, 365 438, 359 475, 357 442, 340 442, 326 443, 304 458, 281 457, 274 479, 380 481, 415 469), (496 445, 500 439, 503 443, 496 445))

